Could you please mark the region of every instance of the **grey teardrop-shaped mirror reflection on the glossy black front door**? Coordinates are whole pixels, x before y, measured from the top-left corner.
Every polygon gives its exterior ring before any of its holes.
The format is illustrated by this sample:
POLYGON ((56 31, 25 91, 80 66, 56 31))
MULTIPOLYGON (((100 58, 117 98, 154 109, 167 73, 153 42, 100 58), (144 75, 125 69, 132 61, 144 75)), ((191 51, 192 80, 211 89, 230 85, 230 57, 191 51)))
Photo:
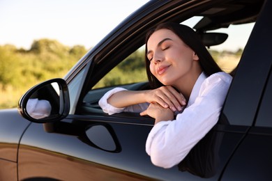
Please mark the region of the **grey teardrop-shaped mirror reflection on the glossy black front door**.
POLYGON ((116 144, 114 142, 112 134, 109 132, 107 127, 103 125, 94 125, 86 130, 86 136, 89 141, 96 145, 96 147, 106 150, 116 150, 116 144))

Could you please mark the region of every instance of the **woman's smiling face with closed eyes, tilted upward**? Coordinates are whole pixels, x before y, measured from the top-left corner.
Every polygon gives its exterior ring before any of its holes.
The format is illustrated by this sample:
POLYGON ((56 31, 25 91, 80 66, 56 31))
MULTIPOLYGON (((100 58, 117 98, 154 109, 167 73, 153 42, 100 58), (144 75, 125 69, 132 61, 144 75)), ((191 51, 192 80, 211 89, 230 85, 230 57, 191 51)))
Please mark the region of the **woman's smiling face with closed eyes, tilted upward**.
POLYGON ((151 73, 165 86, 187 82, 199 74, 198 56, 169 29, 155 31, 147 41, 151 73))

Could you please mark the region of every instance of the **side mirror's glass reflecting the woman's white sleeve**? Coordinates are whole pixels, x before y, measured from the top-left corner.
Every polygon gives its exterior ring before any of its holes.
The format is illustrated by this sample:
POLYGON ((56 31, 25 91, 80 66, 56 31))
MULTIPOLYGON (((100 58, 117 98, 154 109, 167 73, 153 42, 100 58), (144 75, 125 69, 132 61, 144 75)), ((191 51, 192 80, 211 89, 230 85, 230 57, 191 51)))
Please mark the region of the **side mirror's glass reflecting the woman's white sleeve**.
POLYGON ((33 119, 54 118, 63 112, 63 96, 58 83, 38 88, 27 100, 26 112, 33 119))

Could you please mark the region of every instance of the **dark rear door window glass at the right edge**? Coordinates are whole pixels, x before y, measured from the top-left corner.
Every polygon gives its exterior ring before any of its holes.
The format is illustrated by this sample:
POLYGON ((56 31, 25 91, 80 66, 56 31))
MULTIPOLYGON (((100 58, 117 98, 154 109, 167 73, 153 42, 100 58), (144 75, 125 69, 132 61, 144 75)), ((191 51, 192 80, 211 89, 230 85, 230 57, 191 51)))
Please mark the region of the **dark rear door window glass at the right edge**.
POLYGON ((256 120, 256 126, 272 127, 272 75, 270 74, 269 81, 266 86, 262 104, 259 108, 259 113, 256 120))

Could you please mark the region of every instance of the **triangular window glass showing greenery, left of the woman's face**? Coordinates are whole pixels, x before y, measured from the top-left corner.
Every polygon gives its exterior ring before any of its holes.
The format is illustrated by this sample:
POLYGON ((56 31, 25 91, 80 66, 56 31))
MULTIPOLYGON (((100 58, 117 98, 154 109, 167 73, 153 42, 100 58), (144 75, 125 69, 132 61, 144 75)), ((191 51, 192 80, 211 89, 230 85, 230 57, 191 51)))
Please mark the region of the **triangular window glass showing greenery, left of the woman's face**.
POLYGON ((124 61, 108 72, 93 88, 103 88, 147 81, 144 47, 130 54, 124 61))

